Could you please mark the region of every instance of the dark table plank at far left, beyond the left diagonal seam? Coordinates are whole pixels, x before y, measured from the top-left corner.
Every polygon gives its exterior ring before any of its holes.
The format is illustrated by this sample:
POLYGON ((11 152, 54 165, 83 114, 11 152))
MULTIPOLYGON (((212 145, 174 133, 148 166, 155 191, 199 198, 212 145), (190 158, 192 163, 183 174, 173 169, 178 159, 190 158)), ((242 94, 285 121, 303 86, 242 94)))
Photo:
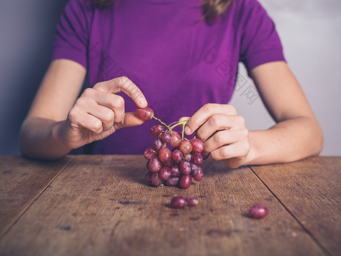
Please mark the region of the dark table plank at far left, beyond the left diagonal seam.
POLYGON ((71 158, 50 162, 0 156, 0 238, 71 158))

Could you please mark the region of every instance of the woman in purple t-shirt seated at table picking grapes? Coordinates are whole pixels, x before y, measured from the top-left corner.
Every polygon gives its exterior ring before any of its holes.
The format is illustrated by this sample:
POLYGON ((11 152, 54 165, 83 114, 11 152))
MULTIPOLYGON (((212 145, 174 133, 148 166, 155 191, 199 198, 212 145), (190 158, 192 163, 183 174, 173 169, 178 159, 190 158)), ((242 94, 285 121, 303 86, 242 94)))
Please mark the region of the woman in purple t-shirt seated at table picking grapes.
POLYGON ((71 0, 53 46, 20 132, 26 156, 57 159, 98 140, 94 154, 142 154, 153 123, 141 125, 136 105, 167 122, 191 117, 186 134, 200 127, 205 154, 232 168, 322 150, 321 128, 257 0, 71 0), (276 120, 268 130, 249 132, 227 104, 239 61, 276 120), (92 88, 78 98, 86 73, 92 88))

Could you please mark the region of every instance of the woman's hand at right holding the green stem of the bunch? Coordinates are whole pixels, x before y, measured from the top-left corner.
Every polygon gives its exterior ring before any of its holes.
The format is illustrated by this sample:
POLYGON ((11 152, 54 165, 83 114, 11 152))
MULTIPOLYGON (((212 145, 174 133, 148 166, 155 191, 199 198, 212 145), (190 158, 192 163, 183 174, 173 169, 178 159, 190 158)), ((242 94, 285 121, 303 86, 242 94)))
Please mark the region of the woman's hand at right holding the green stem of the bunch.
POLYGON ((214 160, 223 160, 228 167, 246 164, 250 151, 248 130, 243 117, 227 104, 208 103, 201 107, 185 127, 187 135, 197 130, 197 137, 204 142, 204 154, 214 160))

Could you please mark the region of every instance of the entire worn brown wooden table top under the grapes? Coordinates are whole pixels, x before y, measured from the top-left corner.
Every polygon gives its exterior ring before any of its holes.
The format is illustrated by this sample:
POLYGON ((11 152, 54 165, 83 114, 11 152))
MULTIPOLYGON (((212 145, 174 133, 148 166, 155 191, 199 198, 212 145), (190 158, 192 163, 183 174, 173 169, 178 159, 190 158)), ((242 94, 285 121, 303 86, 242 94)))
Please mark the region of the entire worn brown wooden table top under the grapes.
POLYGON ((341 157, 238 169, 207 160, 187 190, 147 185, 145 164, 0 157, 0 255, 341 255, 341 157), (175 195, 199 204, 172 209, 175 195), (248 217, 253 204, 268 216, 248 217))

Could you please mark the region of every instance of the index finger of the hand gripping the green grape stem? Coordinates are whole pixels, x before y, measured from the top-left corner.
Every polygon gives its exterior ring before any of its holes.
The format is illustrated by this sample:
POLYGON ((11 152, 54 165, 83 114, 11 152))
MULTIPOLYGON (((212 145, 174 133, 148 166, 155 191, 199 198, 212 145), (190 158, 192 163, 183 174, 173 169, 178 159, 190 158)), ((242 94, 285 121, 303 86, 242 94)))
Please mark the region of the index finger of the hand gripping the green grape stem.
POLYGON ((228 104, 205 104, 197 112, 195 112, 191 118, 189 118, 189 121, 185 127, 185 133, 187 135, 192 134, 196 129, 204 124, 208 118, 216 114, 237 115, 237 111, 233 106, 228 104))

